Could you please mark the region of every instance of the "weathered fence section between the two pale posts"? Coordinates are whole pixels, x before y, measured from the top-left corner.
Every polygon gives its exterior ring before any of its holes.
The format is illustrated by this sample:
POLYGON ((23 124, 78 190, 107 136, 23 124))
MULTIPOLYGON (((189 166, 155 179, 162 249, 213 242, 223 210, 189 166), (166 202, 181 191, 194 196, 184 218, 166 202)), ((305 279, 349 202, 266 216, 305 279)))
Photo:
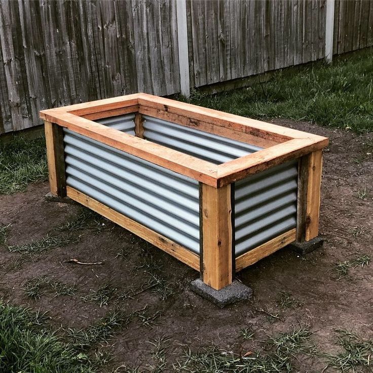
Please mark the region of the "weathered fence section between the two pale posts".
POLYGON ((323 58, 325 0, 189 0, 191 85, 323 58))

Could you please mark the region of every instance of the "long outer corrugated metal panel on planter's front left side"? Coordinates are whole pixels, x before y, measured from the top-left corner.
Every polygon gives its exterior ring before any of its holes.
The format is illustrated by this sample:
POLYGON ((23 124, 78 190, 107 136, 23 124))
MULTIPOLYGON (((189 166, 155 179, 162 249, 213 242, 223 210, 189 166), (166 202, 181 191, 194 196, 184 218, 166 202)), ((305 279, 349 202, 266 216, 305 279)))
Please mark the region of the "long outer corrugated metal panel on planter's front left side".
POLYGON ((199 253, 198 182, 64 129, 66 183, 199 253))

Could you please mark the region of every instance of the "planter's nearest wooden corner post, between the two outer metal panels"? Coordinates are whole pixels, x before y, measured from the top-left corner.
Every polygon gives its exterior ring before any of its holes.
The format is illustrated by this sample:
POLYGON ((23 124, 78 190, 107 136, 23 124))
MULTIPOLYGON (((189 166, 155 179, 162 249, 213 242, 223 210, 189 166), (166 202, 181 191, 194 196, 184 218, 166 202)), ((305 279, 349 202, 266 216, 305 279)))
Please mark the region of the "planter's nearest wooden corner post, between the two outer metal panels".
POLYGON ((233 280, 231 185, 202 185, 203 282, 219 290, 233 280))

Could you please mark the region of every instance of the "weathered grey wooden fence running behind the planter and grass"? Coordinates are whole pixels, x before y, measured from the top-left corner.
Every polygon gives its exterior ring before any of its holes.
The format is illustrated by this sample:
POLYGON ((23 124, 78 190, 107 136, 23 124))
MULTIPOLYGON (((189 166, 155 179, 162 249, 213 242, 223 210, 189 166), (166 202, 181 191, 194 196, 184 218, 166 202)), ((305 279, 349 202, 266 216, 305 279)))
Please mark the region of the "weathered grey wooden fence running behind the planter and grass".
POLYGON ((373 45, 370 0, 0 0, 0 134, 44 108, 324 58, 330 4, 334 54, 373 45))

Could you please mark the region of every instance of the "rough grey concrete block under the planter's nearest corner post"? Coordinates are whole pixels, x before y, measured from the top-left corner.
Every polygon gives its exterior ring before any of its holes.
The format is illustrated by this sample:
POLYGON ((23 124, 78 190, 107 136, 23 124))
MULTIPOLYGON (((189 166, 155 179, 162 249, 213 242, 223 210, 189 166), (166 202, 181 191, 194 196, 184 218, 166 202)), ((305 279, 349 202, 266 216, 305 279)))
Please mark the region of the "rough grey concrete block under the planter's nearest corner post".
POLYGON ((197 279, 192 281, 191 289, 220 308, 247 300, 252 295, 252 289, 237 280, 220 290, 215 290, 201 279, 197 279))

